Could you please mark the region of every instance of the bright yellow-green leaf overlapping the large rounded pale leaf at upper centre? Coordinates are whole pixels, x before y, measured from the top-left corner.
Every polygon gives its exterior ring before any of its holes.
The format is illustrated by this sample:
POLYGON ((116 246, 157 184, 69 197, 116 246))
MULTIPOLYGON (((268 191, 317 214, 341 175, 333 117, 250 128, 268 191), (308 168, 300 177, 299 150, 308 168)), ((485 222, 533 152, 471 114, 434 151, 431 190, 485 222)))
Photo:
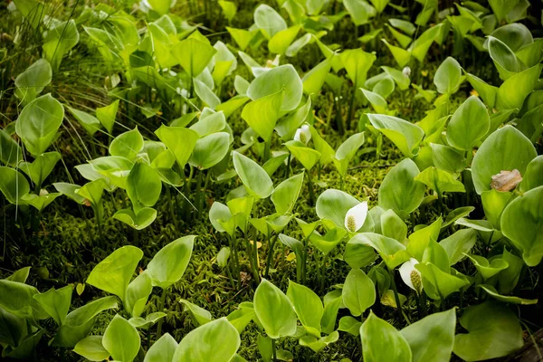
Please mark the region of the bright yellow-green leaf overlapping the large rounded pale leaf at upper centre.
POLYGON ((281 117, 283 93, 283 90, 279 90, 243 107, 242 118, 266 142, 270 142, 277 119, 281 117))

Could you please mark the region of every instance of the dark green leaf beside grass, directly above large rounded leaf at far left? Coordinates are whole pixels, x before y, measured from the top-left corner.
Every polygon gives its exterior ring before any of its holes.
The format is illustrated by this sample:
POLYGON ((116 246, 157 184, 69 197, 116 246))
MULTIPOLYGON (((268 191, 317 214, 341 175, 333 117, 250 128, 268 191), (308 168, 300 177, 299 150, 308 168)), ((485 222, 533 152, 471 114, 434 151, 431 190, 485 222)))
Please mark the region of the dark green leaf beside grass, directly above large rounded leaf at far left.
POLYGON ((33 62, 25 71, 15 78, 15 96, 23 101, 23 104, 35 100, 52 80, 51 64, 46 59, 33 62))

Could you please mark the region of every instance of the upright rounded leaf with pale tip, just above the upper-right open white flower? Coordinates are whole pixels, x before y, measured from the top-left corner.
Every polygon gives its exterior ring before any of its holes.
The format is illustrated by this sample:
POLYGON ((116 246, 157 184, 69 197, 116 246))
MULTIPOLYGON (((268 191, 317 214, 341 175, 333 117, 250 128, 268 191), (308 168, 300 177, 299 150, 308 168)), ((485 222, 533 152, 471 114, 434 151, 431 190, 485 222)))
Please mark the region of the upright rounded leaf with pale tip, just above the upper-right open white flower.
POLYGON ((424 185, 414 180, 418 174, 418 167, 409 158, 392 167, 379 187, 379 206, 400 216, 412 213, 424 198, 424 185))

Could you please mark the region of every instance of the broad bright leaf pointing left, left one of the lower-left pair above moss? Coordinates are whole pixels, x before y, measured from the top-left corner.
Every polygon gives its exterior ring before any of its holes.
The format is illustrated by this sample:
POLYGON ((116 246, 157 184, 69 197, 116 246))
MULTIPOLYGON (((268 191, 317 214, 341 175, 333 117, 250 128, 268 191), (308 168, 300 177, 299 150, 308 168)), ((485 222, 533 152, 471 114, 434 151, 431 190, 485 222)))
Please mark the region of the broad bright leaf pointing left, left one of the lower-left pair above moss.
POLYGON ((124 303, 129 282, 142 257, 143 252, 139 248, 122 246, 99 262, 90 271, 86 282, 102 291, 115 294, 124 303))

